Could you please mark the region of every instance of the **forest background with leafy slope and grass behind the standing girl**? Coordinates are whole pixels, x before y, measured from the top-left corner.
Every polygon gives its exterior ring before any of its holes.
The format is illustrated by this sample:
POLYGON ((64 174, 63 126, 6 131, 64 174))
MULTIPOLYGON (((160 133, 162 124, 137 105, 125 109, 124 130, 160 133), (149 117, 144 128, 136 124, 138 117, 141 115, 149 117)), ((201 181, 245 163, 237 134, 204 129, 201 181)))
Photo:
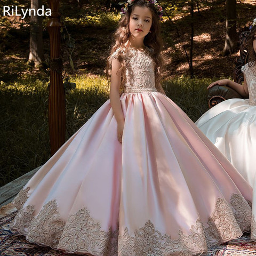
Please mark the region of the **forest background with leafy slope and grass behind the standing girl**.
MULTIPOLYGON (((0 6, 0 186, 50 158, 47 103, 50 42, 43 18, 42 62, 28 61, 30 17, 3 17, 3 6, 30 8, 30 0, 2 0, 0 6)), ((61 55, 66 83, 66 139, 108 99, 106 59, 121 6, 111 0, 60 2, 61 55)), ((254 0, 172 0, 165 9, 163 87, 195 122, 207 109, 206 87, 231 78, 239 47, 223 51, 227 4, 236 4, 235 34, 249 30, 256 17, 254 0), (191 39, 193 38, 193 40, 191 39), (193 49, 191 49, 193 46, 193 49), (193 69, 191 69, 193 63, 193 69)), ((46 0, 42 1, 49 8, 46 0)), ((231 10, 231 9, 230 9, 231 10)))

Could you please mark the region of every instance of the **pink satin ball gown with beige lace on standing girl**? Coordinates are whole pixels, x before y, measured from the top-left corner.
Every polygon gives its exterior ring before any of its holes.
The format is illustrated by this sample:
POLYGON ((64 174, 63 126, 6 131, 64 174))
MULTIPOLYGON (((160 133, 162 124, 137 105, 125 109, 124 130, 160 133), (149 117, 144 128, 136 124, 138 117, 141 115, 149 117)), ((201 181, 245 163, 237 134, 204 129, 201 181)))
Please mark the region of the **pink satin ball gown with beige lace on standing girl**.
POLYGON ((201 254, 249 231, 252 188, 156 91, 149 48, 123 54, 122 144, 108 100, 20 191, 12 227, 31 243, 102 256, 201 254))

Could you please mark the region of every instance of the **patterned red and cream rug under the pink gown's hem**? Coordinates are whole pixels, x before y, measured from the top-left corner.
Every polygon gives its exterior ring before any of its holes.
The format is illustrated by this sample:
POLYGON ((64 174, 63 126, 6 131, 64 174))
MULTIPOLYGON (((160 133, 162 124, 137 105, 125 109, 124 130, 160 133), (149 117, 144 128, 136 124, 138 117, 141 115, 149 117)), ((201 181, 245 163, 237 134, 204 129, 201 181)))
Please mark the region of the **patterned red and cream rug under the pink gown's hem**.
MULTIPOLYGON (((50 247, 38 246, 26 241, 24 236, 11 231, 9 225, 15 217, 15 208, 7 204, 0 209, 0 255, 1 256, 70 256, 65 252, 50 247)), ((212 248, 202 256, 249 256, 256 255, 256 242, 250 242, 250 236, 232 240, 226 244, 212 248)))

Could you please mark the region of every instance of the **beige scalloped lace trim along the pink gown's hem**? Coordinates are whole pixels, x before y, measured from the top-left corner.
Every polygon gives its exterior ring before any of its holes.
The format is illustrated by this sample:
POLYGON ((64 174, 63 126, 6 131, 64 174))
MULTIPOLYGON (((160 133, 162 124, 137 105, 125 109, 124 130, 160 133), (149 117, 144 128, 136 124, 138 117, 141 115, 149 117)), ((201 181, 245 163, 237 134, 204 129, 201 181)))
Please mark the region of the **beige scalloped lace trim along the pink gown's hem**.
MULTIPOLYGON (((16 202, 21 202, 19 197, 25 198, 26 193, 19 194, 15 198, 16 202)), ((230 205, 225 199, 218 198, 206 227, 198 215, 190 234, 185 235, 180 230, 178 239, 171 239, 169 235, 156 230, 150 220, 142 228, 135 230, 134 236, 129 235, 131 231, 127 227, 115 231, 111 227, 108 231, 101 230, 100 223, 93 220, 86 207, 71 214, 64 223, 56 200, 45 204, 37 217, 33 215, 34 211, 34 205, 22 207, 11 228, 17 229, 32 243, 69 253, 105 256, 195 255, 206 252, 207 247, 241 236, 242 231, 249 231, 251 226, 251 208, 239 194, 231 196, 230 205)))

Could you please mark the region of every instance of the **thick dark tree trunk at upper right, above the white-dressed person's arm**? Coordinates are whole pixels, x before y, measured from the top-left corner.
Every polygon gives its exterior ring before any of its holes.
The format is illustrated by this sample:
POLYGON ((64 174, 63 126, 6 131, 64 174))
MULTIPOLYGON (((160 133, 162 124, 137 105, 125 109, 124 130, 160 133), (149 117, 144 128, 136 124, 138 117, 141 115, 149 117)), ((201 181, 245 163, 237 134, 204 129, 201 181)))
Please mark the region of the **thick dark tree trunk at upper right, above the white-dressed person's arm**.
POLYGON ((226 4, 226 42, 223 55, 229 55, 237 49, 236 0, 227 0, 226 4))

